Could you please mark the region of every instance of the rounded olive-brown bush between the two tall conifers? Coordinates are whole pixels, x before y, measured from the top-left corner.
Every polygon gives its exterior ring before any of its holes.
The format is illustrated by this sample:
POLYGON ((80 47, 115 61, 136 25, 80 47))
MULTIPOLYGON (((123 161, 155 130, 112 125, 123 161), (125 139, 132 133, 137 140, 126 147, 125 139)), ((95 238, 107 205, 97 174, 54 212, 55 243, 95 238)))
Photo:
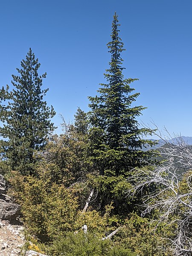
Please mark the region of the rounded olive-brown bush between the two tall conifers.
POLYGON ((46 170, 53 182, 65 183, 67 186, 85 180, 91 169, 86 163, 83 138, 78 137, 73 126, 71 130, 70 133, 52 137, 42 154, 41 163, 41 172, 46 170))

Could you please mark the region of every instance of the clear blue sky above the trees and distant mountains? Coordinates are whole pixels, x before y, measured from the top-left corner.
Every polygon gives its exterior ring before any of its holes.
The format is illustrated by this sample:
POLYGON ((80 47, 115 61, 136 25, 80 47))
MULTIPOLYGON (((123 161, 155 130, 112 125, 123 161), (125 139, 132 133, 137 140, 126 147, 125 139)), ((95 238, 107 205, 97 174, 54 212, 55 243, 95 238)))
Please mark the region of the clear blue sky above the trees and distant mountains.
POLYGON ((131 85, 140 92, 136 104, 147 107, 138 121, 192 136, 191 0, 0 1, 0 86, 11 84, 31 47, 47 72, 55 125, 59 113, 72 121, 77 107, 88 111, 87 96, 105 82, 115 11, 124 76, 140 79, 131 85))

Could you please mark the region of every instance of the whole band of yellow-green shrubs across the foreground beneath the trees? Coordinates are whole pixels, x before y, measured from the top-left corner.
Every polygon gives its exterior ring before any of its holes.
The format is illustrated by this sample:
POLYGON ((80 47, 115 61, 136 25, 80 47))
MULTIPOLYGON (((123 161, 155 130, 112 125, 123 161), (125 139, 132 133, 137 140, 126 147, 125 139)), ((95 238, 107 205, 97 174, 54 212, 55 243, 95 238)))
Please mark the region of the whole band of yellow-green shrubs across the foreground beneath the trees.
MULTIPOLYGON (((52 256, 170 256, 163 250, 163 232, 154 234, 147 219, 131 215, 111 240, 102 241, 119 226, 113 206, 103 215, 89 207, 82 212, 76 191, 79 183, 66 188, 41 176, 12 175, 17 202, 28 232, 39 239, 38 247, 52 256), (81 227, 87 225, 87 234, 81 227)), ((82 192, 83 193, 83 192, 82 192)), ((81 195, 81 192, 79 192, 81 195)), ((85 204, 85 201, 84 201, 85 204)))

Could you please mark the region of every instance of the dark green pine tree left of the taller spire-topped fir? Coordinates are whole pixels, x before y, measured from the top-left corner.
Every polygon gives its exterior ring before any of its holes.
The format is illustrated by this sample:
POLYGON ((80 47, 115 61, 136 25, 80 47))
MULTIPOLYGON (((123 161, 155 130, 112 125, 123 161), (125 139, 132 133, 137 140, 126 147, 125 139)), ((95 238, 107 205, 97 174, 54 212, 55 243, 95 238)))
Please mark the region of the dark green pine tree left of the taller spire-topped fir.
POLYGON ((13 90, 9 92, 9 87, 0 90, 0 121, 3 122, 0 136, 5 139, 0 144, 2 158, 10 169, 22 174, 34 173, 34 152, 44 147, 54 130, 50 118, 55 111, 43 101, 48 89, 41 90, 41 86, 47 74, 38 75, 40 65, 29 49, 26 59, 21 61, 21 69, 17 68, 19 76, 12 75, 13 90))

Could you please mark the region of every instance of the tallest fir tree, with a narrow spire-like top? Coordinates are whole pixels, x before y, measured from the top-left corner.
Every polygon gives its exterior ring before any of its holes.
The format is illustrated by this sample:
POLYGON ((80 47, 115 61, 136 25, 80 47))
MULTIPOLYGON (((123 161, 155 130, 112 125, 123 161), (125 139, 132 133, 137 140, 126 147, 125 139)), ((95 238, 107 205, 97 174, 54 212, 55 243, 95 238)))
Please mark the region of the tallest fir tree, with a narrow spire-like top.
POLYGON ((89 116, 92 125, 89 134, 91 157, 99 169, 99 178, 103 186, 101 196, 105 203, 109 203, 110 200, 115 201, 116 207, 121 200, 125 210, 128 204, 125 204, 123 199, 125 195, 122 195, 122 191, 129 186, 126 177, 131 175, 135 167, 145 166, 154 152, 142 150, 146 143, 153 144, 143 139, 145 135, 151 134, 151 131, 140 128, 137 121, 137 117, 145 108, 131 106, 140 93, 133 93, 134 88, 131 88, 130 84, 138 79, 123 77, 121 53, 125 49, 119 37, 119 26, 115 13, 112 41, 107 44, 111 61, 104 75, 108 83, 101 84, 98 96, 89 97, 91 102, 89 116))

